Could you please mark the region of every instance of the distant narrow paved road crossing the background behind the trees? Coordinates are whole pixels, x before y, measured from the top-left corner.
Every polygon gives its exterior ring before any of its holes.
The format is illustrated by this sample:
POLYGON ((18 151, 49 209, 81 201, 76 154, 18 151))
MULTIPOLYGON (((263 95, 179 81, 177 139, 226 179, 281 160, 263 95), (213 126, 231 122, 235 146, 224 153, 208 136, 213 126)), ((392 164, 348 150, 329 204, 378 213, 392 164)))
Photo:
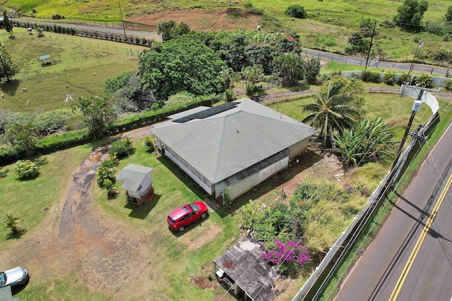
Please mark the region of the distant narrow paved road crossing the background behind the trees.
MULTIPOLYGON (((17 18, 15 20, 20 20, 22 22, 28 22, 33 24, 46 24, 46 25, 54 25, 55 23, 52 22, 45 22, 40 20, 32 20, 30 18, 17 18)), ((109 33, 116 33, 117 35, 122 35, 124 33, 124 30, 121 27, 106 27, 106 26, 95 26, 93 24, 89 25, 80 25, 76 23, 57 23, 61 26, 67 26, 67 27, 74 27, 81 30, 97 30, 97 31, 103 31, 103 32, 109 32, 109 33)), ((126 33, 128 35, 135 35, 138 37, 159 37, 157 35, 157 32, 146 32, 146 31, 138 31, 138 30, 129 30, 126 29, 126 33)), ((331 54, 329 52, 323 52, 318 51, 314 49, 304 49, 304 54, 309 54, 311 56, 317 56, 324 60, 331 60, 334 61, 341 61, 350 65, 356 65, 356 66, 365 66, 366 60, 365 59, 359 59, 359 58, 353 58, 350 56, 341 56, 338 54, 331 54)), ((393 63, 393 62, 385 62, 385 61, 374 61, 369 60, 368 65, 370 67, 376 67, 376 68, 394 68, 398 70, 409 70, 411 63, 393 63)), ((446 75, 448 73, 448 68, 442 68, 438 66, 430 66, 430 65, 423 65, 415 63, 413 65, 412 71, 419 72, 419 73, 434 73, 439 75, 446 75)), ((452 74, 452 70, 448 74, 452 74)))

